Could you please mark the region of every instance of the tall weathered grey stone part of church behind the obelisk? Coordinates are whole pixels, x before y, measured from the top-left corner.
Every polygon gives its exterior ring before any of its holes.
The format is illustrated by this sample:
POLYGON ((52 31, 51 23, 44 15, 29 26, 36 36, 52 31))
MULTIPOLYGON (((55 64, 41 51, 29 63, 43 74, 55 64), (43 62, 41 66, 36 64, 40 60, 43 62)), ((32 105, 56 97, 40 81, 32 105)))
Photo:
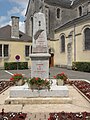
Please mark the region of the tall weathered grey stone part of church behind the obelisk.
POLYGON ((31 18, 35 12, 38 12, 40 9, 42 9, 43 13, 45 13, 48 38, 54 39, 55 28, 58 28, 62 25, 66 26, 67 22, 81 17, 79 16, 79 6, 82 6, 83 8, 82 16, 84 15, 87 17, 90 11, 88 0, 75 0, 74 3, 71 0, 34 0, 33 2, 28 3, 28 11, 26 12, 25 21, 26 34, 32 36, 31 18), (60 18, 57 18, 58 8, 60 9, 60 18))

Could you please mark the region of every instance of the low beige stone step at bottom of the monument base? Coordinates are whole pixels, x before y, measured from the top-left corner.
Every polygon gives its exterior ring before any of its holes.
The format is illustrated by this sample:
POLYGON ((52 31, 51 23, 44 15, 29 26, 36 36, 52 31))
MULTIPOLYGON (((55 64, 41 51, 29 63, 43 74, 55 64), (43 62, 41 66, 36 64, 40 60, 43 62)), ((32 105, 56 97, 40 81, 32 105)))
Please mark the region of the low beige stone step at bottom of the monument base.
POLYGON ((5 104, 71 104, 72 99, 64 98, 7 98, 5 104))

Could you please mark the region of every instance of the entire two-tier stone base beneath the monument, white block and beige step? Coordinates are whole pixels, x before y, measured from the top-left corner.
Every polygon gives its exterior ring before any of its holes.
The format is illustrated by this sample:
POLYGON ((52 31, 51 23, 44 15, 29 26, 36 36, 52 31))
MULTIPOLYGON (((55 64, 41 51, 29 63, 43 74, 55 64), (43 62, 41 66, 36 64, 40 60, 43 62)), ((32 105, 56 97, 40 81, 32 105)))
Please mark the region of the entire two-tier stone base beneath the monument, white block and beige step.
POLYGON ((51 89, 31 90, 28 85, 11 87, 5 104, 66 104, 72 103, 67 86, 52 84, 51 89))

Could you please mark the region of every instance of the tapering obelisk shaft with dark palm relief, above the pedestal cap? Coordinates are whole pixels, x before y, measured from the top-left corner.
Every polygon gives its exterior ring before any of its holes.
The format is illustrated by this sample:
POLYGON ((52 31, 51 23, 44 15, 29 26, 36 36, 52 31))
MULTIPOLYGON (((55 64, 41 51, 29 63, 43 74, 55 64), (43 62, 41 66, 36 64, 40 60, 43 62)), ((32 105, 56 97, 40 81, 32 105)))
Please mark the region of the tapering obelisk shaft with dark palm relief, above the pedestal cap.
POLYGON ((33 17, 33 53, 47 53, 45 15, 35 13, 33 17))

